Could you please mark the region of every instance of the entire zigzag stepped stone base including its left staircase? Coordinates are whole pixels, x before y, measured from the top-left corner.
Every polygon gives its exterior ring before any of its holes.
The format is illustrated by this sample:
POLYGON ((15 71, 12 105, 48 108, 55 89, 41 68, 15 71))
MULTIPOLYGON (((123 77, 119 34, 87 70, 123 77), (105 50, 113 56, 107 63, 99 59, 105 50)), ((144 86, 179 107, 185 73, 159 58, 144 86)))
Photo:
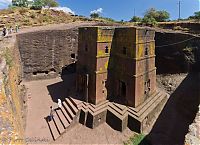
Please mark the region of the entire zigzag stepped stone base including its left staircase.
POLYGON ((152 124, 155 114, 160 113, 167 99, 166 93, 155 91, 143 104, 133 108, 108 100, 94 105, 69 97, 62 102, 61 109, 55 110, 54 118, 48 122, 48 126, 54 140, 77 123, 95 128, 107 122, 118 131, 128 127, 141 133, 152 124))

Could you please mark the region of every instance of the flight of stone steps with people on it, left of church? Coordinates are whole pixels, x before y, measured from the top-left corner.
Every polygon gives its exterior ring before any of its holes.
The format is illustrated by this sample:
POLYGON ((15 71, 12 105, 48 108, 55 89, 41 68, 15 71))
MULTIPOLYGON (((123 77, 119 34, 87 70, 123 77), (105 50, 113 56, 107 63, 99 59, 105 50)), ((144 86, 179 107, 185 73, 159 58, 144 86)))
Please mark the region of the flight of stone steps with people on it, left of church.
POLYGON ((77 123, 78 108, 72 99, 66 98, 62 107, 55 109, 53 120, 48 121, 48 126, 53 140, 59 138, 66 130, 77 123))

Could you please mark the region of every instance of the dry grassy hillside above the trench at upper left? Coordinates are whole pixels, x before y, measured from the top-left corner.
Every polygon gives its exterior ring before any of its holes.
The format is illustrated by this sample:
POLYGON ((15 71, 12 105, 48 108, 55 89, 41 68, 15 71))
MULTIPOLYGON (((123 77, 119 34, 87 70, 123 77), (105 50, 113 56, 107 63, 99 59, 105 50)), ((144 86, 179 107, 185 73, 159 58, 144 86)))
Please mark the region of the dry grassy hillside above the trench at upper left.
POLYGON ((67 14, 51 9, 30 10, 28 8, 9 8, 0 10, 0 28, 4 25, 20 27, 43 26, 47 24, 71 23, 75 21, 91 21, 86 17, 67 14))

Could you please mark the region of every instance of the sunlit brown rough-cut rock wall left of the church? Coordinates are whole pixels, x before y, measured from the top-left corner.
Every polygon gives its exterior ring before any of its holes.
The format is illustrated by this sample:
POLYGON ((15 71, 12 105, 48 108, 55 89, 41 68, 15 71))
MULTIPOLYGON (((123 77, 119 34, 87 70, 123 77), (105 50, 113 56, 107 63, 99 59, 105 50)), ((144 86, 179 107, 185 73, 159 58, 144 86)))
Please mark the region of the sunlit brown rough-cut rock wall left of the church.
POLYGON ((77 59, 77 28, 22 33, 17 41, 27 80, 55 76, 77 59))

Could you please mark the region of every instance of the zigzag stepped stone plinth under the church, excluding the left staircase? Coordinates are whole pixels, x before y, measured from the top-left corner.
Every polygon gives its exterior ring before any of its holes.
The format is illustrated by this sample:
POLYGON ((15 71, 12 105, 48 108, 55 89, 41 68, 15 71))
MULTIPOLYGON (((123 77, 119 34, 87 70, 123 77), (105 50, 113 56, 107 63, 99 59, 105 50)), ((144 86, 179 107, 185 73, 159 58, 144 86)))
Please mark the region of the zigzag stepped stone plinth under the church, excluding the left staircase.
POLYGON ((109 102, 93 105, 71 98, 72 103, 80 111, 79 122, 90 128, 95 128, 107 122, 112 128, 124 131, 127 127, 132 131, 144 133, 152 127, 169 96, 162 91, 156 91, 140 106, 133 108, 109 102))

